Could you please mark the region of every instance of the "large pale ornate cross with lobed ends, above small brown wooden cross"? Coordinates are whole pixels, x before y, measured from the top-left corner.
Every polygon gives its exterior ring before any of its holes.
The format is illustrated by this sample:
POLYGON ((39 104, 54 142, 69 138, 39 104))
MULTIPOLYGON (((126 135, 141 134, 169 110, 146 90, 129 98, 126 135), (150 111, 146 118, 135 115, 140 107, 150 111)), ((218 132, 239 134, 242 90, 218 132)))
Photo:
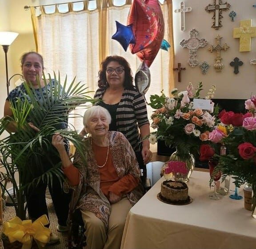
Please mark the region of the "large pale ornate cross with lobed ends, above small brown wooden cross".
POLYGON ((188 65, 189 66, 196 66, 198 64, 197 60, 197 49, 200 47, 205 47, 208 41, 204 38, 199 39, 198 38, 199 31, 193 28, 189 32, 190 38, 188 40, 183 39, 180 42, 180 46, 185 48, 187 47, 189 49, 189 60, 188 65))

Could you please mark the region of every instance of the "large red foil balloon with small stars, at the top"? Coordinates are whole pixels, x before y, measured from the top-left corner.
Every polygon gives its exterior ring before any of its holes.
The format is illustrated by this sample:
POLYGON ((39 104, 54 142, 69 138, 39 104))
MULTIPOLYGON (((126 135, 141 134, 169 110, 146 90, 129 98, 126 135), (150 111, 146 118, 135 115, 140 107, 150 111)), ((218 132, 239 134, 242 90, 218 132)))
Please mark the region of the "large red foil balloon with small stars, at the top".
POLYGON ((132 54, 151 66, 164 38, 164 17, 158 0, 133 0, 127 24, 132 24, 132 54))

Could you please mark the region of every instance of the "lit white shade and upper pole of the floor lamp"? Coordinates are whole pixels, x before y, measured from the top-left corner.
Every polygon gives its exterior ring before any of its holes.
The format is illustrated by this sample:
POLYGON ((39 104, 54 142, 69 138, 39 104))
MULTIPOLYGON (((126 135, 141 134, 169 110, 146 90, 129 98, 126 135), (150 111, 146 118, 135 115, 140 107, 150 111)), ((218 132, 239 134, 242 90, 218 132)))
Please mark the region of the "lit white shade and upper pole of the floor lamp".
POLYGON ((0 45, 2 45, 5 54, 5 69, 6 69, 6 87, 7 95, 9 94, 9 78, 8 78, 8 63, 7 63, 7 52, 9 46, 18 36, 18 33, 15 32, 0 32, 0 45))

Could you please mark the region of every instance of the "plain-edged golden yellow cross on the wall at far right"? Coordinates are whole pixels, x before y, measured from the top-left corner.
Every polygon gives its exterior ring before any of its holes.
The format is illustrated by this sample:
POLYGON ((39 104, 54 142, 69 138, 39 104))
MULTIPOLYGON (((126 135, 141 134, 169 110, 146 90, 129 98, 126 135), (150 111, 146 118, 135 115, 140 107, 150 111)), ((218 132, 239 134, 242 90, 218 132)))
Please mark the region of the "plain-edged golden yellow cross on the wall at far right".
POLYGON ((240 27, 235 27, 233 38, 240 38, 239 51, 251 51, 251 38, 256 37, 256 27, 252 27, 252 19, 240 21, 240 27))

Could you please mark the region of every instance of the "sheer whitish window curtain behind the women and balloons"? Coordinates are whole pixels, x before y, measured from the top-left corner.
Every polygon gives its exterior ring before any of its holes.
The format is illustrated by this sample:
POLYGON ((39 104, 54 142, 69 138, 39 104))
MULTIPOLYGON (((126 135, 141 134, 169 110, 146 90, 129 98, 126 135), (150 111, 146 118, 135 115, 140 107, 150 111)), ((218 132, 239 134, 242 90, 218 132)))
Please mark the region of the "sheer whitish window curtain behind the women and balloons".
MULTIPOLYGON (((170 0, 168 1, 170 2, 170 0)), ((97 6, 95 10, 88 10, 86 3, 88 2, 83 2, 81 11, 74 11, 74 5, 71 3, 66 4, 66 13, 60 13, 59 5, 52 6, 52 14, 48 14, 47 7, 34 8, 32 9, 32 19, 37 50, 44 57, 45 73, 52 74, 53 71, 60 71, 62 81, 67 75, 68 82, 71 82, 76 76, 76 81, 86 84, 89 91, 95 91, 100 66, 99 19, 102 18, 102 12, 100 12, 100 6, 97 6), (37 12, 39 15, 36 14, 37 12)), ((108 4, 108 0, 103 0, 101 3, 108 4)), ((65 5, 63 6, 65 7, 65 5)), ((141 63, 140 60, 136 54, 131 54, 129 50, 125 52, 116 40, 111 39, 116 32, 115 21, 126 24, 130 5, 116 7, 110 4, 109 6, 104 9, 108 17, 108 44, 106 46, 108 51, 105 54, 117 54, 126 58, 132 67, 134 76, 141 63)), ((164 38, 168 40, 168 37, 172 36, 168 27, 169 23, 172 23, 170 20, 172 9, 170 9, 170 5, 166 4, 166 1, 162 7, 165 19, 164 38)), ((171 44, 171 41, 169 42, 171 44)), ((170 85, 173 83, 170 82, 172 78, 170 77, 172 74, 172 63, 170 62, 172 60, 169 51, 160 50, 150 67, 151 85, 146 93, 147 101, 151 94, 160 94, 162 89, 168 94, 170 85)), ((91 95, 93 96, 93 93, 91 95)), ((84 109, 76 110, 76 113, 83 114, 84 109)), ((150 116, 151 113, 152 110, 149 107, 148 115, 150 116)), ((83 127, 82 118, 70 119, 70 123, 76 130, 83 127)))

